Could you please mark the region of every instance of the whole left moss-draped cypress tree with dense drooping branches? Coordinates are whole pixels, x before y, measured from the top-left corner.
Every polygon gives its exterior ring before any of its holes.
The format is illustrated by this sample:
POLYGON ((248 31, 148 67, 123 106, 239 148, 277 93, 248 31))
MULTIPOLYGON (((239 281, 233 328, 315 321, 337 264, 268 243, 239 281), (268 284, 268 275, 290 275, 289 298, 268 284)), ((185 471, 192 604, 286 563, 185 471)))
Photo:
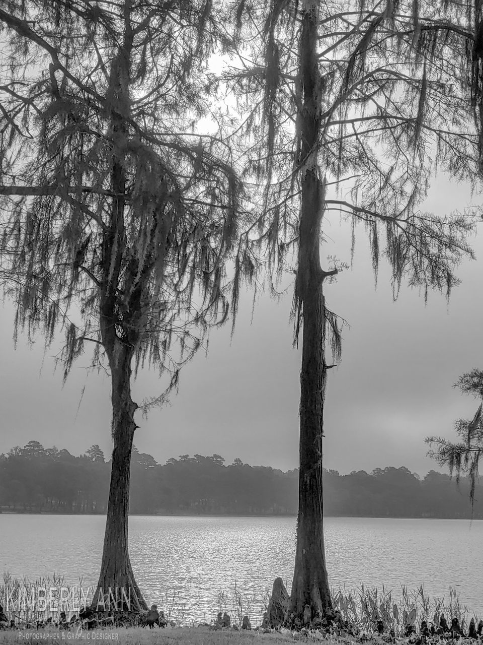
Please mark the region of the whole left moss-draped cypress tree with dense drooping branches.
MULTIPOLYGON (((240 182, 229 148, 194 135, 209 112, 212 11, 205 0, 0 3, 2 253, 15 334, 43 333, 48 345, 63 331, 64 377, 90 348, 111 377, 95 605, 111 589, 146 608, 128 553, 133 372, 153 366, 176 387, 228 313, 240 182)), ((248 256, 243 267, 254 269, 248 256)))

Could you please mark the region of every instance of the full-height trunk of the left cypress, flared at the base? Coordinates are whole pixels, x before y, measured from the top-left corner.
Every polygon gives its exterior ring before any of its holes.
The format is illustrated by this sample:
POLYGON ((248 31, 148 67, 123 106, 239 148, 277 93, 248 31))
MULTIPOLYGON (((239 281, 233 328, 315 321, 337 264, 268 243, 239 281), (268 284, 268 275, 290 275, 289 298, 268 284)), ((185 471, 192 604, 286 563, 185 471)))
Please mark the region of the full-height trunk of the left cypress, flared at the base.
MULTIPOLYGON (((119 317, 118 290, 122 284, 121 266, 126 246, 124 208, 126 172, 123 153, 118 144, 129 136, 130 116, 129 79, 133 32, 131 30, 131 3, 124 0, 124 43, 111 63, 110 94, 112 95, 110 126, 113 137, 111 186, 113 197, 109 228, 102 244, 103 280, 100 298, 100 332, 106 350, 112 381, 112 437, 113 454, 109 486, 106 533, 100 566, 99 584, 92 606, 108 594, 111 607, 147 609, 146 601, 134 578, 128 552, 129 482, 131 479, 131 452, 137 428, 134 413, 137 404, 131 399, 131 360, 139 341, 139 330, 133 329, 132 315, 127 320, 119 317), (113 600, 115 599, 115 600, 113 600)), ((101 605, 102 608, 102 605, 101 605)), ((106 610, 109 609, 106 606, 106 610)))

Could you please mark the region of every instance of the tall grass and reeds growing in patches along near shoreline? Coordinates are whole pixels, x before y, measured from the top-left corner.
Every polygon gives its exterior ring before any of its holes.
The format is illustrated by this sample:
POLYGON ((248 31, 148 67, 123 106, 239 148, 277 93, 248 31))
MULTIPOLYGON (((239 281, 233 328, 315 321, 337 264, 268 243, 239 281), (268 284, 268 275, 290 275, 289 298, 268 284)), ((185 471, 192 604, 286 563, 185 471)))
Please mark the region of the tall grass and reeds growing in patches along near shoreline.
MULTIPOLYGON (((462 629, 468 630, 469 620, 473 617, 468 608, 460 604, 454 587, 450 587, 447 599, 440 599, 431 598, 425 593, 422 584, 415 590, 408 590, 407 586, 401 585, 401 590, 396 595, 384 585, 381 588, 368 588, 361 583, 356 589, 332 590, 332 598, 343 620, 368 633, 377 630, 377 620, 383 620, 385 631, 394 630, 396 634, 404 633, 408 624, 414 624, 419 629, 422 620, 426 620, 428 625, 433 623, 437 628, 441 613, 449 619, 449 623, 452 618, 457 618, 462 629)), ((243 616, 246 615, 252 625, 257 626, 263 620, 263 611, 267 611, 269 599, 269 589, 261 591, 260 595, 244 593, 234 581, 228 590, 218 591, 215 606, 222 613, 226 611, 230 615, 232 624, 241 626, 243 616)), ((156 601, 169 621, 173 620, 177 626, 193 626, 194 622, 187 617, 184 600, 178 591, 156 594, 156 601)), ((78 613, 79 608, 86 604, 86 596, 82 580, 79 580, 79 586, 72 586, 57 575, 30 582, 27 578, 14 579, 10 573, 5 573, 3 581, 0 581, 0 604, 17 625, 26 626, 35 625, 37 620, 45 620, 50 616, 55 622, 59 620, 61 611, 66 612, 69 620, 73 613, 78 613), (44 590, 52 597, 53 607, 43 608, 39 603, 44 590)), ((204 613, 204 622, 216 622, 213 610, 200 608, 200 611, 204 613)), ((475 622, 478 622, 476 616, 475 622)))

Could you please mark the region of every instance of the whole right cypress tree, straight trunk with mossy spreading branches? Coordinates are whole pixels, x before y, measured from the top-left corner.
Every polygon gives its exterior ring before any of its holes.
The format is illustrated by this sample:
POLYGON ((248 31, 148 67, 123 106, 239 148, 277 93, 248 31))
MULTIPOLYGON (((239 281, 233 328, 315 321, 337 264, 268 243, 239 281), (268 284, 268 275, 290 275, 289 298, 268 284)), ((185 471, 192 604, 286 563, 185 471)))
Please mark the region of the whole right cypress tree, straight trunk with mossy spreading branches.
POLYGON ((419 5, 397 1, 273 0, 265 12, 254 3, 238 5, 242 41, 244 34, 263 34, 249 54, 240 47, 240 72, 225 76, 255 106, 244 121, 256 150, 247 175, 260 182, 264 204, 254 244, 267 246, 276 275, 296 258, 300 471, 289 625, 334 615, 323 537, 323 408, 333 366, 325 349, 330 344, 332 362, 340 359, 341 321, 325 303, 324 283, 343 264, 321 261, 327 224, 342 215, 354 241, 363 223, 375 277, 383 257, 395 297, 404 279, 425 297, 430 288, 449 295, 455 266, 472 255, 468 213, 437 217, 418 210, 437 164, 459 179, 476 176, 464 66, 460 58, 456 68, 448 60, 455 41, 440 35, 445 8, 426 9, 424 15, 419 5))

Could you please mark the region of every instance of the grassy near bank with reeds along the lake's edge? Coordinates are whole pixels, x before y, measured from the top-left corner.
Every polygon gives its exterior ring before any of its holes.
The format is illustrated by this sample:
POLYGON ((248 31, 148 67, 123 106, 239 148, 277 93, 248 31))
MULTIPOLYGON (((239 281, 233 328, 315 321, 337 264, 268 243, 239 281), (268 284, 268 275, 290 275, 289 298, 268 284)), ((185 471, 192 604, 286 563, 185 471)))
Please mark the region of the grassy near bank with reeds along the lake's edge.
MULTIPOLYGON (((468 633, 469 622, 475 618, 476 624, 480 617, 460 604, 455 588, 450 588, 446 599, 430 598, 425 593, 424 587, 420 585, 415 590, 408 590, 402 586, 399 592, 386 590, 384 586, 380 589, 365 588, 362 584, 354 590, 338 589, 332 591, 334 607, 339 612, 342 620, 354 628, 353 634, 332 633, 327 636, 321 631, 310 631, 308 633, 290 633, 288 630, 280 632, 262 633, 262 631, 236 631, 236 630, 212 630, 208 627, 197 627, 198 621, 193 624, 192 620, 185 619, 184 606, 176 603, 175 595, 166 597, 165 602, 159 609, 164 610, 168 620, 173 620, 176 626, 160 630, 155 628, 149 630, 141 627, 117 627, 113 630, 78 631, 73 626, 70 631, 57 628, 35 629, 33 625, 37 620, 45 621, 51 616, 53 621, 59 620, 60 611, 64 610, 69 620, 73 614, 79 613, 79 606, 86 604, 79 596, 79 588, 66 586, 61 578, 53 577, 30 582, 27 579, 19 581, 5 575, 3 584, 0 582, 0 604, 5 608, 8 619, 14 619, 19 629, 0 630, 1 643, 35 643, 35 642, 118 642, 126 644, 162 643, 164 645, 176 645, 178 643, 188 645, 251 645, 255 640, 263 641, 267 645, 279 645, 281 643, 295 642, 296 640, 310 640, 311 642, 337 642, 341 644, 363 643, 370 641, 374 645, 383 645, 383 642, 403 643, 415 645, 432 645, 440 642, 438 636, 419 636, 421 621, 427 622, 428 626, 433 624, 439 627, 439 617, 444 614, 448 624, 451 619, 458 620, 462 631, 468 633), (49 611, 39 606, 39 590, 55 588, 57 591, 68 591, 69 602, 62 602, 62 596, 54 598, 57 606, 55 610, 49 611), (25 591, 28 593, 25 595, 25 591), (76 595, 77 594, 77 595, 76 595), (30 599, 25 602, 24 599, 30 599), (10 607, 8 603, 10 602, 10 607), (73 603, 73 604, 72 604, 73 603), (75 605, 75 606, 74 606, 75 605), (384 624, 384 633, 377 634, 377 622, 384 624), (406 628, 412 625, 417 634, 408 639, 406 628), (391 634, 392 633, 392 634, 391 634)), ((205 621, 213 624, 216 621, 217 611, 226 611, 231 617, 231 624, 240 627, 243 615, 248 615, 252 626, 260 625, 261 612, 266 610, 269 602, 269 591, 261 591, 260 597, 255 598, 244 595, 236 584, 228 591, 218 592, 218 608, 213 611, 205 611, 205 621)), ((174 624, 174 623, 173 623, 174 624)), ((445 640, 450 640, 449 637, 445 640)), ((464 639, 460 640, 464 642, 464 639)), ((468 643, 474 640, 468 640, 468 643)))

